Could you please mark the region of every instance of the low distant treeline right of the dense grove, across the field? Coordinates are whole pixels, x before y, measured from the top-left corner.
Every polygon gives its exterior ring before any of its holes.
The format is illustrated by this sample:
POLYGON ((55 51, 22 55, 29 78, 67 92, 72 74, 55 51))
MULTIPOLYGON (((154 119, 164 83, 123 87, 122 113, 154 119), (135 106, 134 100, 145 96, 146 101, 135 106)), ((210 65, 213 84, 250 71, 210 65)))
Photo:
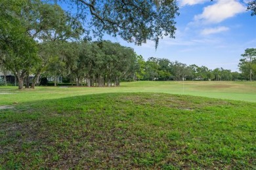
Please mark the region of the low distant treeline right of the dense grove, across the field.
POLYGON ((205 66, 186 65, 179 61, 170 61, 165 58, 148 58, 142 56, 137 60, 139 66, 137 80, 246 80, 244 73, 232 72, 228 69, 208 69, 205 66))

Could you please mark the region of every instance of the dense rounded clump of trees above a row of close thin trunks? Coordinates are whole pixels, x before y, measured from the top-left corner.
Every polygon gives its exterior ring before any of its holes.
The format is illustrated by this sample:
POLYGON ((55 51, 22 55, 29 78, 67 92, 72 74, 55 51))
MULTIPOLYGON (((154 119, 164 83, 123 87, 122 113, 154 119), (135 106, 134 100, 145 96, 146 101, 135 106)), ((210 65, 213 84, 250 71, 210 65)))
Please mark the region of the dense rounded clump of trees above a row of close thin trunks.
POLYGON ((68 50, 62 52, 67 75, 77 86, 119 86, 120 80, 135 74, 136 54, 131 48, 110 41, 67 45, 68 50))

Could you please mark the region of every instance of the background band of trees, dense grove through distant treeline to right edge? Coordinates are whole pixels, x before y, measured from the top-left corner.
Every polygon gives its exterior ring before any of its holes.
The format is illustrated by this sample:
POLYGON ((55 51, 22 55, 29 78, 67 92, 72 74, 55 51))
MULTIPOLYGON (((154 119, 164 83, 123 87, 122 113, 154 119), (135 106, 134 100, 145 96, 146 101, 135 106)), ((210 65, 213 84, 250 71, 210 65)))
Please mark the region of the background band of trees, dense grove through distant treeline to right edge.
MULTIPOLYGON (((37 44, 39 67, 31 67, 35 84, 45 77, 53 77, 54 86, 57 77, 76 86, 119 86, 121 81, 136 80, 255 80, 256 59, 242 58, 239 67, 241 73, 229 69, 208 69, 205 66, 186 65, 165 58, 138 56, 132 48, 110 41, 45 41, 37 44), (251 68, 251 69, 250 69, 251 68)), ((254 48, 253 48, 254 49, 254 48)), ((8 58, 7 58, 8 59, 8 58)), ((22 68, 13 65, 12 69, 22 68)), ((1 65, 2 71, 12 71, 1 65)), ((21 69, 22 71, 22 69, 21 69)), ((28 82, 24 76, 24 82, 28 82)), ((25 84, 26 88, 29 87, 25 84)))

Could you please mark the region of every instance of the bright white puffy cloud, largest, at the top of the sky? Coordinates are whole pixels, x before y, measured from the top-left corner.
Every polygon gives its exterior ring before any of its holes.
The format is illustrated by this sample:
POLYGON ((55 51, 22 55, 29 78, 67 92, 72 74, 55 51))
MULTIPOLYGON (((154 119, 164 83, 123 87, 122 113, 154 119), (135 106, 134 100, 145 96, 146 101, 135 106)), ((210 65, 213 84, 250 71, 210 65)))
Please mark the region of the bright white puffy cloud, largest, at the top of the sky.
POLYGON ((205 7, 202 14, 194 16, 194 20, 214 24, 245 12, 245 10, 246 7, 236 0, 218 0, 214 5, 205 7))

